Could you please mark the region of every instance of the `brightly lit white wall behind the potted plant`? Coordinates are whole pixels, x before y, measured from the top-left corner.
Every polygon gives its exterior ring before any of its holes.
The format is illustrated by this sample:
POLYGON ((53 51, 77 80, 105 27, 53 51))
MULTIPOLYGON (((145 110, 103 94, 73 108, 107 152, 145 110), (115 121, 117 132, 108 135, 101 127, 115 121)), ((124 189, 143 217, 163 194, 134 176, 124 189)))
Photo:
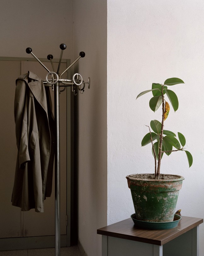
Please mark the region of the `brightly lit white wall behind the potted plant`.
MULTIPOLYGON (((150 146, 141 147, 145 125, 159 119, 149 108, 151 94, 136 96, 152 82, 179 77, 185 85, 170 89, 178 96, 165 129, 184 134, 194 158, 188 168, 184 152, 162 159, 161 172, 185 177, 177 209, 204 217, 204 5, 203 1, 107 1, 108 224, 133 212, 126 175, 154 172, 150 146)), ((161 120, 161 118, 159 119, 161 120)), ((204 254, 204 225, 200 254, 204 254)))

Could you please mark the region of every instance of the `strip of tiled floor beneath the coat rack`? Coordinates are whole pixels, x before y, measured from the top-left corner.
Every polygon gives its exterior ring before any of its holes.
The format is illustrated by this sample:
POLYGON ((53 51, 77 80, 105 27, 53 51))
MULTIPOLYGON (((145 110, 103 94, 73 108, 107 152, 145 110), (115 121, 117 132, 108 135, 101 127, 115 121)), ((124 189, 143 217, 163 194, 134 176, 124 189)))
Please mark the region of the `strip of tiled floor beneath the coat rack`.
MULTIPOLYGON (((0 251, 0 256, 54 256, 55 248, 0 251)), ((78 246, 61 247, 60 256, 83 256, 78 246)))

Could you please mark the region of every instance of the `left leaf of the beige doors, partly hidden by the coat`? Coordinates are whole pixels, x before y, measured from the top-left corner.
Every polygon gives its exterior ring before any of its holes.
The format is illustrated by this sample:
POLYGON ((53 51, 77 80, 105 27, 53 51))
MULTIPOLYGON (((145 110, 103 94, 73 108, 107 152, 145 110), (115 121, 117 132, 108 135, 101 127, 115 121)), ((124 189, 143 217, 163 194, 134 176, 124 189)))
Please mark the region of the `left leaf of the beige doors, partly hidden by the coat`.
POLYGON ((20 61, 0 61, 0 238, 21 236, 20 208, 11 205, 17 156, 14 96, 20 61))

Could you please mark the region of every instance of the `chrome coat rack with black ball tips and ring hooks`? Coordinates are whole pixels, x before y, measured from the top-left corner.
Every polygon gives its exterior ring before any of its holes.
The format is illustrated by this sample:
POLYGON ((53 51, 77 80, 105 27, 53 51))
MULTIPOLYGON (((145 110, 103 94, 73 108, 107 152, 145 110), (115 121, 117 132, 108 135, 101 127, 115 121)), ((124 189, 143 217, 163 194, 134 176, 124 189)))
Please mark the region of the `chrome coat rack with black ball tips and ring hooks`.
POLYGON ((31 54, 47 71, 48 74, 43 80, 44 86, 50 86, 54 90, 54 120, 55 120, 55 256, 60 256, 60 133, 59 133, 59 94, 63 92, 67 86, 72 87, 72 92, 74 95, 77 94, 77 89, 82 94, 85 89, 85 84, 88 84, 90 88, 90 77, 88 77, 88 82, 84 82, 82 76, 75 73, 72 79, 62 79, 62 75, 71 68, 80 58, 85 57, 84 52, 79 53, 79 57, 59 75, 60 64, 62 60, 63 51, 66 49, 65 44, 60 44, 60 58, 57 72, 54 70, 54 65, 52 62, 53 55, 49 54, 47 56, 50 60, 53 71, 48 70, 48 68, 32 53, 30 47, 26 48, 26 52, 31 54), (60 90, 60 87, 64 89, 60 90))

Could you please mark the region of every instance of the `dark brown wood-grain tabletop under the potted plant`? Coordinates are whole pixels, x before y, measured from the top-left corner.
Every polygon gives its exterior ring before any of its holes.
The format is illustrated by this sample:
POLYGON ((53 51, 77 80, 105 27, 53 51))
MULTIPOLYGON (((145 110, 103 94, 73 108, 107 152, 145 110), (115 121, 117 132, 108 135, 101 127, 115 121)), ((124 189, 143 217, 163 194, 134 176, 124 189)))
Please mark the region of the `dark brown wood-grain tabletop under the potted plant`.
POLYGON ((182 216, 178 226, 173 229, 148 230, 137 228, 131 218, 114 223, 101 229, 97 234, 122 239, 139 241, 155 245, 163 245, 203 223, 203 219, 182 216))

